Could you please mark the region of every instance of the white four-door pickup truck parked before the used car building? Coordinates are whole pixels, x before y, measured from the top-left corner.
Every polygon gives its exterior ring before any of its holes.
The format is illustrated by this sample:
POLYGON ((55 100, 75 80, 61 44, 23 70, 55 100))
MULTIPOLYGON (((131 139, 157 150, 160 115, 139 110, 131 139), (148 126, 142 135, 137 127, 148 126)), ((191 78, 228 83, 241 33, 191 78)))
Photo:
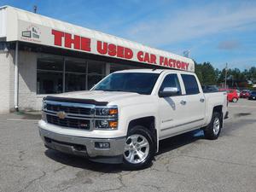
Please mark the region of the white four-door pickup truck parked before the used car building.
POLYGON ((217 139, 226 114, 226 93, 204 94, 195 73, 137 69, 89 91, 46 96, 38 126, 47 148, 139 169, 162 139, 199 128, 217 139))

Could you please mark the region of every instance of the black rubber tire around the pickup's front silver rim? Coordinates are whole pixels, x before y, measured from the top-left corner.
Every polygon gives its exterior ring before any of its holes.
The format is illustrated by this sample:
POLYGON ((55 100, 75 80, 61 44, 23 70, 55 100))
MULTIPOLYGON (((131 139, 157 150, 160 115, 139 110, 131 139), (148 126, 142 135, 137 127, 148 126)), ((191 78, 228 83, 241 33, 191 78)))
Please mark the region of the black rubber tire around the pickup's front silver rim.
MULTIPOLYGON (((143 168, 147 168, 148 166, 151 166, 152 160, 154 159, 155 150, 156 150, 155 142, 154 142, 154 133, 152 131, 149 131, 146 127, 144 127, 142 125, 136 125, 128 131, 126 139, 128 139, 132 135, 140 135, 140 136, 143 136, 144 138, 146 138, 148 140, 148 144, 149 144, 149 151, 148 151, 148 155, 145 157, 145 159, 142 162, 138 162, 138 163, 131 163, 128 160, 126 160, 125 155, 126 156, 128 156, 128 155, 126 153, 124 153, 123 162, 124 162, 125 169, 140 170, 143 168)), ((128 142, 129 141, 126 140, 126 143, 128 143, 128 142)))

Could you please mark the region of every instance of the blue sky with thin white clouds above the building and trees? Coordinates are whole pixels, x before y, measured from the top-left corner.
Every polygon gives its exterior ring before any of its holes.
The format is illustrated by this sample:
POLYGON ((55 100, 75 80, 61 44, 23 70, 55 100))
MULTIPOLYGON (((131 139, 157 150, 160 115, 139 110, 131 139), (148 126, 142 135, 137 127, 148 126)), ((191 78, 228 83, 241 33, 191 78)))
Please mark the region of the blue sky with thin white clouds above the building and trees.
POLYGON ((256 1, 0 0, 213 67, 256 67, 256 1))

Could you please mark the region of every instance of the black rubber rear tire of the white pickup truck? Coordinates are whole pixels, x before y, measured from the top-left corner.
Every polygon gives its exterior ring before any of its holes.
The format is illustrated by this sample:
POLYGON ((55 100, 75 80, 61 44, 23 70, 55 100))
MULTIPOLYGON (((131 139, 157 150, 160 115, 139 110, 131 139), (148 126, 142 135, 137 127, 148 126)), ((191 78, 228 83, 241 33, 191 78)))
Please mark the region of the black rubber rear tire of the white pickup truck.
POLYGON ((221 131, 221 128, 222 128, 221 124, 222 124, 222 116, 221 116, 221 114, 218 113, 218 112, 213 112, 210 124, 207 125, 207 127, 204 128, 205 137, 207 139, 211 139, 211 140, 217 139, 218 136, 219 136, 219 133, 221 131), (218 122, 219 122, 218 132, 216 131, 216 129, 214 130, 214 121, 216 119, 218 119, 218 122))

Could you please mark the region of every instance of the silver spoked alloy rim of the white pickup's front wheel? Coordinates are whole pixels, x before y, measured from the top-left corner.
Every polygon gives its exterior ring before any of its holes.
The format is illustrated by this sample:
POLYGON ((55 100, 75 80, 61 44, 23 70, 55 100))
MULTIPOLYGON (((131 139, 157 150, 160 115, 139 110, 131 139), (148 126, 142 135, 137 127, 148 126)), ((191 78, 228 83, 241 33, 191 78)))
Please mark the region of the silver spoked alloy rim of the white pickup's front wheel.
POLYGON ((143 162, 148 157, 149 143, 146 137, 134 134, 126 139, 124 157, 131 164, 143 162))

